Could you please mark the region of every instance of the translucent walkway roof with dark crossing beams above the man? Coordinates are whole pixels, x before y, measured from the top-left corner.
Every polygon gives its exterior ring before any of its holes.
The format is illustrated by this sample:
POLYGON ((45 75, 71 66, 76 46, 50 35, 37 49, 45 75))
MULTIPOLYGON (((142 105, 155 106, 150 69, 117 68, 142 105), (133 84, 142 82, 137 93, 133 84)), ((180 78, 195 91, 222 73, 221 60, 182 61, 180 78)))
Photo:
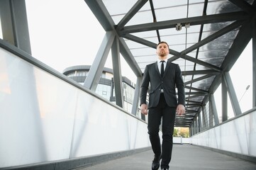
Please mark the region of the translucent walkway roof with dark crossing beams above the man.
POLYGON ((135 74, 155 62, 158 42, 169 43, 169 60, 184 77, 189 127, 252 38, 254 0, 85 0, 106 31, 115 31, 121 55, 135 74))

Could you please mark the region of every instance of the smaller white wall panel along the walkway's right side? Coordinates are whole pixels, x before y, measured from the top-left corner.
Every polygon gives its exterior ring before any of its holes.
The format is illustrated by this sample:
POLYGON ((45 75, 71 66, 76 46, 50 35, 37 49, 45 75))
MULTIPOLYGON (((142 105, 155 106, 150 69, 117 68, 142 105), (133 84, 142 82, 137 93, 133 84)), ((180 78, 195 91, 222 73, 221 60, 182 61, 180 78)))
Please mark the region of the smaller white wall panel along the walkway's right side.
POLYGON ((191 137, 191 144, 256 157, 256 111, 191 137))

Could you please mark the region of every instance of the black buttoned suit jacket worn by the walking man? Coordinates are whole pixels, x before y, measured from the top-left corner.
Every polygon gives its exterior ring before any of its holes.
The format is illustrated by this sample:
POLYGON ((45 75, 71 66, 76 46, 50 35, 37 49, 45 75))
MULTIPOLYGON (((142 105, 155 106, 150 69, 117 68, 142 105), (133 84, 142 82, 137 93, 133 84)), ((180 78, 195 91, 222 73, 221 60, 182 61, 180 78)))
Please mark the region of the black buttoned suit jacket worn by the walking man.
POLYGON ((161 89, 164 90, 165 101, 169 107, 177 107, 177 104, 185 106, 184 82, 182 72, 178 64, 167 62, 163 77, 161 77, 157 62, 148 64, 143 75, 143 82, 140 86, 140 105, 146 103, 146 97, 149 91, 148 108, 157 106, 161 89), (178 98, 176 96, 176 87, 178 98))

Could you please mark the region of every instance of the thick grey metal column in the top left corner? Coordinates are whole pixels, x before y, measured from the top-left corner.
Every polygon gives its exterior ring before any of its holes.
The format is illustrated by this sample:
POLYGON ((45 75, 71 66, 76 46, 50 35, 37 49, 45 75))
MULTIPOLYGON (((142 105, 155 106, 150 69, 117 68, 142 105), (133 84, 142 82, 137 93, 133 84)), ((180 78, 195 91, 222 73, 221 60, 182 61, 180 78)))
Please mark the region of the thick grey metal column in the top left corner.
POLYGON ((31 55, 25 0, 1 0, 3 39, 31 55))

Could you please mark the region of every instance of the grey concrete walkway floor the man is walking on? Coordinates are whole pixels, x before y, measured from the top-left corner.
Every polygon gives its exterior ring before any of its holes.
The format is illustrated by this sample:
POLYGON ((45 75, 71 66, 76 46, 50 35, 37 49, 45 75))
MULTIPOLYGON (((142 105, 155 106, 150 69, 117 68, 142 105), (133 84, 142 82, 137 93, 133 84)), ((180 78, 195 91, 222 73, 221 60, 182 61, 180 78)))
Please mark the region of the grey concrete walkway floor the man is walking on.
MULTIPOLYGON (((150 170, 152 150, 79 170, 150 170)), ((256 170, 256 164, 194 145, 174 145, 169 170, 256 170)))

